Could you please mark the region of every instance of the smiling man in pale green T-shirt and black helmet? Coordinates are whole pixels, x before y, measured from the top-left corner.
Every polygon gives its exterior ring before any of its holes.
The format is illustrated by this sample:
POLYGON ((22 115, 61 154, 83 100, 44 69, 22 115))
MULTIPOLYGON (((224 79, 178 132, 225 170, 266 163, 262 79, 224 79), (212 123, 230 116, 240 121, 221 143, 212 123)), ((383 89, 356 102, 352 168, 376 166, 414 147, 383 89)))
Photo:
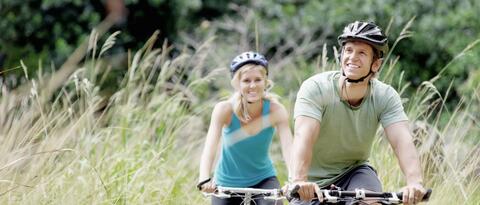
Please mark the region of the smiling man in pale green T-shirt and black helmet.
POLYGON ((301 200, 291 204, 319 204, 310 200, 332 184, 382 191, 367 163, 380 124, 406 177, 404 204, 416 204, 426 190, 408 119, 398 93, 375 78, 388 50, 387 37, 375 24, 356 21, 338 42, 341 71, 307 79, 297 94, 290 181, 300 186, 301 200))

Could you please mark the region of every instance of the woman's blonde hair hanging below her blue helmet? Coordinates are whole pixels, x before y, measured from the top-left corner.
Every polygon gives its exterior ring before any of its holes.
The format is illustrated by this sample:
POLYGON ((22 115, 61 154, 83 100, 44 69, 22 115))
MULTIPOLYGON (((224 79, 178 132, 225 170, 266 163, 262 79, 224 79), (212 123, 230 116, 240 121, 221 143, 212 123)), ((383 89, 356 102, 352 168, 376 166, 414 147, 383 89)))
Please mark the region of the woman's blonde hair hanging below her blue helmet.
POLYGON ((267 78, 267 70, 265 67, 261 65, 256 65, 256 64, 246 64, 240 67, 235 74, 233 75, 232 80, 230 81, 230 84, 237 90, 232 97, 230 98, 232 103, 233 103, 233 112, 238 116, 240 121, 246 123, 249 122, 252 118, 250 117, 250 114, 248 113, 247 110, 247 101, 246 99, 240 94, 240 79, 242 77, 242 74, 245 73, 246 71, 254 70, 257 69, 259 70, 263 77, 265 78, 265 92, 263 99, 268 99, 274 102, 277 102, 278 96, 270 93, 270 89, 273 87, 273 81, 267 78))

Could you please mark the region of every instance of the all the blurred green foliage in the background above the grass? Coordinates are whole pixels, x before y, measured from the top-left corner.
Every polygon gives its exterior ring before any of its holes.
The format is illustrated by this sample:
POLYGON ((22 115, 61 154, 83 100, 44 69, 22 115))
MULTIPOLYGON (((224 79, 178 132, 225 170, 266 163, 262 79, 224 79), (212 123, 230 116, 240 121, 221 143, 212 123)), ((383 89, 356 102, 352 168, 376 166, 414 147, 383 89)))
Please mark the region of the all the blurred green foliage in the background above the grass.
MULTIPOLYGON (((215 34, 222 44, 237 45, 233 47, 234 53, 258 50, 282 66, 291 62, 280 59, 280 56, 291 53, 302 55, 307 61, 315 60, 323 44, 328 47, 328 57, 334 58, 331 48, 338 47, 336 37, 348 22, 354 20, 377 22, 388 31, 392 45, 402 25, 416 16, 411 29, 413 35, 398 44, 392 56, 401 57, 399 65, 405 69, 405 78, 414 87, 436 76, 469 43, 480 38, 480 23, 476 19, 480 5, 470 0, 124 2, 129 15, 123 24, 117 25, 116 29, 123 33, 119 39, 122 46, 113 48, 113 54, 125 52, 123 48, 138 49, 139 42, 160 30, 160 39, 169 42, 189 43, 183 33, 195 33, 189 35, 194 39, 199 35, 215 34)), ((20 59, 28 67, 35 67, 38 59, 48 67, 53 61, 55 68, 106 16, 102 1, 19 3, 5 0, 0 3, 0 9, 0 54, 7 57, 3 70, 18 66, 20 59)), ((478 86, 475 84, 478 77, 471 80, 469 76, 478 69, 478 56, 480 49, 474 46, 461 57, 461 61, 445 69, 448 77, 436 82, 437 87, 445 92, 450 80, 454 80, 455 89, 449 94, 449 101, 453 104, 458 96, 468 95, 478 86), (464 83, 467 79, 470 79, 469 83, 464 83)), ((21 74, 19 71, 8 73, 21 74)), ((29 71, 31 75, 34 73, 35 70, 29 71)))

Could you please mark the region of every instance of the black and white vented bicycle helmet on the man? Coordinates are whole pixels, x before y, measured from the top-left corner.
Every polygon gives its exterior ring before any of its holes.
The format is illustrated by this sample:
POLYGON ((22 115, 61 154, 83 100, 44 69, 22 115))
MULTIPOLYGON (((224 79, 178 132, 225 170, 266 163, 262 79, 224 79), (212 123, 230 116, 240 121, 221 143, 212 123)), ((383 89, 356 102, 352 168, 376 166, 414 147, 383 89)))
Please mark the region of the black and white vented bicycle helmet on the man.
POLYGON ((387 37, 382 30, 372 22, 355 21, 343 29, 342 35, 338 36, 338 44, 345 45, 346 42, 359 40, 373 46, 382 58, 388 52, 387 37))

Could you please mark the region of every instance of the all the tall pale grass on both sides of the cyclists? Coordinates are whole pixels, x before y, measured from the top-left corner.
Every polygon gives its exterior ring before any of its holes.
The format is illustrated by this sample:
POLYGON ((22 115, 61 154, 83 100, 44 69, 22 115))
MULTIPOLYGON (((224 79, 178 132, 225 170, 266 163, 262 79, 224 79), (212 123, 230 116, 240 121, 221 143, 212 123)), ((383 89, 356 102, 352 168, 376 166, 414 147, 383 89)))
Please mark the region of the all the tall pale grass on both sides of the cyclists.
MULTIPOLYGON (((194 185, 211 108, 230 92, 222 88, 229 87, 226 69, 217 68, 228 64, 218 58, 226 54, 217 55, 220 46, 209 38, 171 57, 167 44, 153 47, 154 34, 129 53, 120 87, 107 98, 99 90, 110 70, 102 57, 119 34, 100 49, 95 35, 89 57, 75 65, 55 95, 42 83, 52 78, 41 74, 27 79, 32 86, 26 92, 1 91, 0 204, 207 204, 194 185)), ((282 56, 283 74, 273 75, 290 109, 303 79, 336 69, 326 47, 315 65, 301 56, 282 56)), ((446 94, 432 82, 405 96, 409 85, 396 75, 396 62, 385 63, 381 78, 405 97, 425 183, 434 189, 429 204, 477 204, 480 130, 469 113, 478 109, 480 98, 465 98, 449 111, 443 105, 446 94), (443 116, 447 123, 441 123, 443 116)), ((278 150, 275 142, 276 161, 278 150)), ((402 187, 403 176, 384 138, 372 152, 384 189, 402 187)), ((277 166, 285 179, 283 165, 277 166)))

